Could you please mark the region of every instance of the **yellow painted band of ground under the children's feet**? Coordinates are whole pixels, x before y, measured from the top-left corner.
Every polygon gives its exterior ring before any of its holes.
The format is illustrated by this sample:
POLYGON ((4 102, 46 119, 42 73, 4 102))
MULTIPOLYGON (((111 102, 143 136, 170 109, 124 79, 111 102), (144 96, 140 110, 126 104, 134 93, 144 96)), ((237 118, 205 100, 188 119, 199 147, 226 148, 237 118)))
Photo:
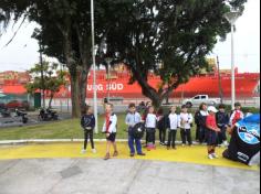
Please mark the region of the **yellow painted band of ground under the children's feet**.
MULTIPOLYGON (((64 158, 86 158, 101 159, 105 155, 105 143, 96 143, 97 153, 93 154, 91 150, 86 154, 81 154, 82 143, 48 143, 48 144, 27 144, 13 147, 0 147, 0 160, 15 159, 64 159, 64 158)), ((118 143, 119 157, 117 159, 129 159, 127 143, 118 143)), ((166 162, 185 162, 194 164, 205 164, 215 166, 237 168, 246 170, 258 170, 258 166, 249 168, 247 165, 232 162, 221 158, 223 149, 218 148, 217 153, 220 159, 209 160, 207 158, 206 147, 195 146, 192 148, 178 147, 177 150, 166 150, 165 147, 158 147, 157 150, 147 152, 145 158, 136 157, 138 160, 154 160, 166 162)))

